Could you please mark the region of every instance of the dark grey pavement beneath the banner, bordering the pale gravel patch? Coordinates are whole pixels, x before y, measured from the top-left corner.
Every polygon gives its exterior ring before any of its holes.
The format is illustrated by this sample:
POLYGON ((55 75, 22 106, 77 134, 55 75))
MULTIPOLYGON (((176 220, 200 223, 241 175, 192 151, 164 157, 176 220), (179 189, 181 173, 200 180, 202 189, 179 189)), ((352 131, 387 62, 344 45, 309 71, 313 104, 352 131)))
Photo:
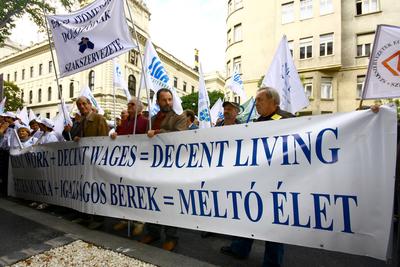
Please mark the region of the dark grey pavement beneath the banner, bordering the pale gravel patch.
MULTIPOLYGON (((228 245, 230 238, 214 235, 203 239, 200 232, 179 229, 179 243, 175 252, 162 250, 161 242, 154 246, 144 245, 126 237, 125 231, 115 231, 112 225, 117 219, 107 219, 99 230, 89 230, 67 220, 65 214, 38 211, 25 202, 0 199, 0 266, 47 251, 53 247, 81 239, 95 245, 121 252, 127 256, 158 266, 261 266, 264 245, 256 241, 249 259, 236 260, 219 253, 221 246, 228 245), (7 242, 4 242, 7 240, 7 242)), ((376 259, 344 253, 285 245, 284 266, 324 267, 394 267, 397 259, 385 263, 376 259)))

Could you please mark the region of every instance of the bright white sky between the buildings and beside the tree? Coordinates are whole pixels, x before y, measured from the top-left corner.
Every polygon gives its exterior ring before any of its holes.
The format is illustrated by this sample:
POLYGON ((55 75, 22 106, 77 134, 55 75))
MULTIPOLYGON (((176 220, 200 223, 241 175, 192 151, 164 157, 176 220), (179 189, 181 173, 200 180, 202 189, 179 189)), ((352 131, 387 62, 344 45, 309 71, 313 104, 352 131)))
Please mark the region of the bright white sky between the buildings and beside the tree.
MULTIPOLYGON (((204 72, 223 71, 225 59, 225 0, 146 0, 150 12, 150 37, 189 66, 199 49, 204 72)), ((11 39, 24 45, 43 36, 24 16, 11 39)))

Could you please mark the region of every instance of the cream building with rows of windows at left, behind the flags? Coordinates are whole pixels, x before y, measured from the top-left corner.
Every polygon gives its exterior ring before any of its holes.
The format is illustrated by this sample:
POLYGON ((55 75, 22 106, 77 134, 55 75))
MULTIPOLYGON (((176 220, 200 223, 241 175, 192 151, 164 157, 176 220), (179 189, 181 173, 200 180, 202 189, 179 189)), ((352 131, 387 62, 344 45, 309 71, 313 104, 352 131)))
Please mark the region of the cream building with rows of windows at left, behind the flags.
MULTIPOLYGON (((144 53, 144 45, 149 36, 150 11, 143 1, 131 0, 129 3, 135 21, 140 50, 144 53)), ((132 22, 129 19, 127 7, 125 7, 125 10, 128 25, 130 25, 132 31, 132 22)), ((183 96, 198 91, 198 72, 156 44, 154 46, 172 81, 171 84, 177 88, 178 94, 183 96)), ((16 44, 9 43, 0 48, 0 51, 2 51, 0 53, 3 53, 0 57, 0 73, 3 73, 5 80, 16 83, 22 89, 25 105, 42 117, 52 118, 56 116, 60 96, 58 95, 48 41, 24 49, 16 44)), ((137 95, 141 74, 138 52, 132 50, 120 55, 118 60, 123 68, 123 75, 128 82, 131 95, 137 95)), ((101 107, 111 112, 114 110, 112 82, 112 61, 59 79, 62 97, 66 103, 72 103, 79 96, 81 88, 89 86, 101 107)), ((210 75, 206 84, 209 90, 222 90, 224 78, 220 74, 210 75), (218 79, 214 76, 218 76, 218 79)), ((141 92, 141 98, 144 102, 146 102, 145 96, 146 93, 141 92)), ((116 114, 119 114, 122 109, 126 109, 126 103, 124 92, 117 90, 116 114)))

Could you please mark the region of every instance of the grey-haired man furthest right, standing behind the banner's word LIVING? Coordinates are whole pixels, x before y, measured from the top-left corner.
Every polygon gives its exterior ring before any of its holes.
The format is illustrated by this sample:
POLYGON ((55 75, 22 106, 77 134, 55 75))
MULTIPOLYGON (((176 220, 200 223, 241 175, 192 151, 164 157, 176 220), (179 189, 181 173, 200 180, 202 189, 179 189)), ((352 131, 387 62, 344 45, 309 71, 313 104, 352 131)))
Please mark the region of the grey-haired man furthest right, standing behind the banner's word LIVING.
MULTIPOLYGON (((279 93, 271 87, 262 87, 257 91, 256 109, 260 117, 256 120, 269 121, 294 117, 293 114, 279 108, 279 93)), ((225 112, 224 112, 225 113, 225 112)), ((221 253, 239 259, 246 259, 251 251, 253 239, 236 237, 230 246, 222 247, 221 253)), ((282 266, 283 244, 265 241, 263 266, 282 266)))

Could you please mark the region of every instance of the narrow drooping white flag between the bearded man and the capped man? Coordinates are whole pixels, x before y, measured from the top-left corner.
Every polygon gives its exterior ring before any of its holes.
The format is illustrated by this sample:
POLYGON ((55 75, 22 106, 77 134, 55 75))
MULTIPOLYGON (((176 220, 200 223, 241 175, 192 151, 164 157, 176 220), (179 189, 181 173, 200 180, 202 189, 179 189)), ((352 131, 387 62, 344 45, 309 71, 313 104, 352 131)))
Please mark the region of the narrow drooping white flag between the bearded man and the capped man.
POLYGON ((210 118, 210 99, 208 98, 208 93, 206 89, 206 83, 204 81, 203 70, 200 64, 199 70, 199 102, 198 102, 198 115, 199 118, 199 128, 210 128, 211 118, 210 118))

